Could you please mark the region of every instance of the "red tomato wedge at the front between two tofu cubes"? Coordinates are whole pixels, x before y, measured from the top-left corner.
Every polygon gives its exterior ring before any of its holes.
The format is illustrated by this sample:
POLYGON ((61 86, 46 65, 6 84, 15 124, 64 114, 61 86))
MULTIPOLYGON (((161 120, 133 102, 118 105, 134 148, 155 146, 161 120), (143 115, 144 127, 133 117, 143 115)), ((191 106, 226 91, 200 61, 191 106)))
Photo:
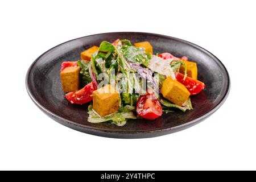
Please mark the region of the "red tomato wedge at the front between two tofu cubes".
POLYGON ((139 97, 136 111, 145 119, 156 119, 163 114, 162 106, 152 90, 147 90, 146 95, 139 97))

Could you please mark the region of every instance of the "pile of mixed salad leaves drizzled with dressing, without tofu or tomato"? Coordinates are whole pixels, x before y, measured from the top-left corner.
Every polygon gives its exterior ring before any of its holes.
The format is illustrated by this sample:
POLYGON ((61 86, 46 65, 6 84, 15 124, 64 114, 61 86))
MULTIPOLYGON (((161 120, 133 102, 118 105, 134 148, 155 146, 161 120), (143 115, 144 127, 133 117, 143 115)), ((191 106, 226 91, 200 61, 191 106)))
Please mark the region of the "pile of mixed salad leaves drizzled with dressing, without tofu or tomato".
MULTIPOLYGON (((78 61, 81 68, 82 83, 84 85, 93 81, 98 85, 97 80, 103 78, 98 77, 100 73, 104 73, 105 79, 111 81, 117 80, 118 73, 123 73, 122 78, 116 82, 117 90, 121 103, 116 113, 105 117, 99 117, 92 109, 92 105, 88 108, 88 121, 92 123, 100 123, 110 121, 117 126, 126 124, 127 119, 136 119, 135 106, 139 96, 146 94, 146 90, 141 90, 141 80, 136 74, 145 78, 151 83, 154 91, 159 91, 164 79, 167 76, 174 77, 174 71, 179 70, 182 61, 162 60, 161 57, 146 53, 144 48, 134 47, 129 40, 119 40, 116 46, 109 42, 102 42, 97 52, 92 55, 90 61, 78 61), (153 77, 153 73, 159 73, 158 77, 153 77), (123 92, 131 91, 131 92, 123 92)), ((100 85, 99 85, 100 86, 100 85)), ((178 106, 165 100, 162 96, 157 95, 160 103, 163 105, 163 111, 169 113, 175 108, 181 111, 193 109, 190 98, 183 104, 178 106)))

